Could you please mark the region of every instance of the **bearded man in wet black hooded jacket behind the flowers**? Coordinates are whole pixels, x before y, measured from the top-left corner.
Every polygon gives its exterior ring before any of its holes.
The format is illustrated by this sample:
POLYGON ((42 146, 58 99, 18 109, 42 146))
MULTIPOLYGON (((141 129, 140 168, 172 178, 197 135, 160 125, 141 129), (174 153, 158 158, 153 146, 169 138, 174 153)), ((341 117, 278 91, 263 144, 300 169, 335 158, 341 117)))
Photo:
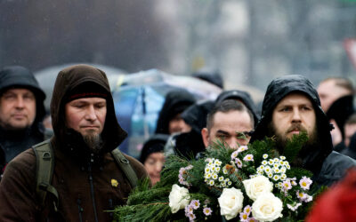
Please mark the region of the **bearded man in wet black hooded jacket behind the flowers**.
POLYGON ((313 84, 303 75, 285 75, 269 84, 261 120, 250 142, 275 136, 277 149, 283 155, 287 141, 305 131, 309 140, 291 164, 311 170, 313 181, 319 185, 331 186, 356 166, 348 156, 332 151, 331 129, 313 84))

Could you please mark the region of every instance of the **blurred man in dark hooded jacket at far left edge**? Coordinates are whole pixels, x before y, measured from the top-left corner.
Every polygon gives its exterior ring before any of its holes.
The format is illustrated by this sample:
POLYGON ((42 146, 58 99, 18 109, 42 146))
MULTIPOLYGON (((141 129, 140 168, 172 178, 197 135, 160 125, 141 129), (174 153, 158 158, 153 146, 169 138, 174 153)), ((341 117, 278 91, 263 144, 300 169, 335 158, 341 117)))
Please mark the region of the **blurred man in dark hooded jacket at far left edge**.
POLYGON ((0 71, 0 145, 6 162, 44 140, 44 91, 26 67, 0 71))

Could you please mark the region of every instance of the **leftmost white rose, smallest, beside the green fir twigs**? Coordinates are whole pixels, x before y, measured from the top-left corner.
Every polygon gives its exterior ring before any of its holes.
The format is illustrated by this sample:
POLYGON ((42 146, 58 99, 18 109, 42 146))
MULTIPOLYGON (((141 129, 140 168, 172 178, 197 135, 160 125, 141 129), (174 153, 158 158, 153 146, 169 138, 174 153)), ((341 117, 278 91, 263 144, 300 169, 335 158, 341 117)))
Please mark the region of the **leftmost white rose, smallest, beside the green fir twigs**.
POLYGON ((169 206, 171 207, 172 213, 184 209, 185 206, 189 204, 189 199, 190 195, 188 189, 174 184, 169 194, 169 206))

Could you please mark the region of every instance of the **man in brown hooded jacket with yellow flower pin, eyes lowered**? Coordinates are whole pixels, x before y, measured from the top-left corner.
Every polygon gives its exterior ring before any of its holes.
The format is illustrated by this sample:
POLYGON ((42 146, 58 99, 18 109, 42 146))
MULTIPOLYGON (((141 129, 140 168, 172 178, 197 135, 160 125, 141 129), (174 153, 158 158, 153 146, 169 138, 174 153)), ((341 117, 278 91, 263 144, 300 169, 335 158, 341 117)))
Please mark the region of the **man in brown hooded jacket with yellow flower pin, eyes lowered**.
MULTIPOLYGON (((126 202, 129 179, 110 154, 126 137, 117 123, 108 79, 86 65, 63 69, 51 101, 54 136, 52 186, 59 203, 36 194, 33 149, 8 164, 0 183, 1 221, 110 221, 112 210, 126 202)), ((125 155, 137 178, 147 177, 141 163, 125 155)))

